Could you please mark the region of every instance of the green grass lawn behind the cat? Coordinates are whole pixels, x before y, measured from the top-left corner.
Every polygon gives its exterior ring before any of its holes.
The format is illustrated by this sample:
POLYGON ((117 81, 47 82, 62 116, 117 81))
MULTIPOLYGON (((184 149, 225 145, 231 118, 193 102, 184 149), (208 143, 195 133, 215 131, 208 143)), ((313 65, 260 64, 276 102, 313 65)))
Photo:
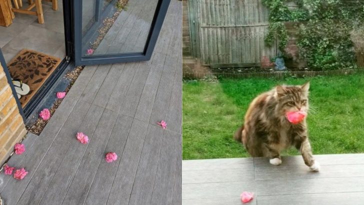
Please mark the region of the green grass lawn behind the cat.
MULTIPOLYGON (((314 154, 364 152, 364 74, 306 79, 183 82, 183 159, 246 157, 232 138, 250 101, 280 83, 310 81, 308 133, 314 154)), ((283 155, 299 154, 290 149, 283 155)))

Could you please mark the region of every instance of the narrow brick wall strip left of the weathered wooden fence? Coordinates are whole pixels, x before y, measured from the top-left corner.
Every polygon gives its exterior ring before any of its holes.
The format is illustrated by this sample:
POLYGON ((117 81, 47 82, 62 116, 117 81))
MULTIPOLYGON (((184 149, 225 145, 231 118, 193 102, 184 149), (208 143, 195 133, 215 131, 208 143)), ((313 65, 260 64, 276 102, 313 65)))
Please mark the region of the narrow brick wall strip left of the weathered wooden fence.
POLYGON ((190 37, 188 27, 188 0, 182 0, 182 53, 183 56, 190 56, 190 37))

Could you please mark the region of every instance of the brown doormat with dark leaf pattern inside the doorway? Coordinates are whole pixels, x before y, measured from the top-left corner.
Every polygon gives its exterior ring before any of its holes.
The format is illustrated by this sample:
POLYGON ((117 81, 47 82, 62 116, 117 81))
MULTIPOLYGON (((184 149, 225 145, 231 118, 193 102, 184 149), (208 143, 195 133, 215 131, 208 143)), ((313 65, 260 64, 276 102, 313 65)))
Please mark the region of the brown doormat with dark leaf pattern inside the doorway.
POLYGON ((28 103, 59 63, 60 58, 29 49, 22 49, 10 60, 7 68, 11 77, 21 79, 30 87, 29 93, 20 97, 22 107, 28 103))

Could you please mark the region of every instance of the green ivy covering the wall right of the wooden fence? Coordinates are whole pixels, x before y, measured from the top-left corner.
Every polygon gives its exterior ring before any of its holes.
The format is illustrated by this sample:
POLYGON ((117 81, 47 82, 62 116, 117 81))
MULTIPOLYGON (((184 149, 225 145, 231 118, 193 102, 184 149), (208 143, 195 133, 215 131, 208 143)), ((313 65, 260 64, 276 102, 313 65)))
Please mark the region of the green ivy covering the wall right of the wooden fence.
POLYGON ((297 46, 299 57, 309 68, 328 70, 356 66, 350 33, 363 29, 364 0, 294 0, 295 9, 289 9, 287 1, 263 0, 269 9, 266 45, 278 39, 278 48, 284 53, 288 42, 285 22, 301 22, 297 27, 297 46))

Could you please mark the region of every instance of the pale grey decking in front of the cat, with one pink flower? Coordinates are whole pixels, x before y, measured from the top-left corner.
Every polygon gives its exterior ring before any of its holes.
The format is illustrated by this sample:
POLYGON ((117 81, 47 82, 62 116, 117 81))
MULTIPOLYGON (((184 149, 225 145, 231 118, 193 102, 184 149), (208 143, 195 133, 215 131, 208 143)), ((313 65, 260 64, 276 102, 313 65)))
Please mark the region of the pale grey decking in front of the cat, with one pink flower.
POLYGON ((300 156, 182 161, 182 204, 364 204, 364 154, 316 155, 319 172, 310 172, 300 156))

